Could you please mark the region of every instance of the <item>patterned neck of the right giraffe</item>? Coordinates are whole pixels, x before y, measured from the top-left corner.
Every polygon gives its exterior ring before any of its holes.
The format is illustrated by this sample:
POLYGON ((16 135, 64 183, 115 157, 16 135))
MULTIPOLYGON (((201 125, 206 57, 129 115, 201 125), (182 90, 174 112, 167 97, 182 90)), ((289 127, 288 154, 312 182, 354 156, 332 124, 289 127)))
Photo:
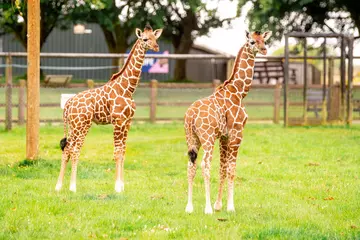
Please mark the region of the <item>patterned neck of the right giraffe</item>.
POLYGON ((246 97, 250 90, 255 64, 255 53, 246 43, 236 56, 230 78, 225 81, 224 88, 231 92, 236 91, 242 98, 246 97))

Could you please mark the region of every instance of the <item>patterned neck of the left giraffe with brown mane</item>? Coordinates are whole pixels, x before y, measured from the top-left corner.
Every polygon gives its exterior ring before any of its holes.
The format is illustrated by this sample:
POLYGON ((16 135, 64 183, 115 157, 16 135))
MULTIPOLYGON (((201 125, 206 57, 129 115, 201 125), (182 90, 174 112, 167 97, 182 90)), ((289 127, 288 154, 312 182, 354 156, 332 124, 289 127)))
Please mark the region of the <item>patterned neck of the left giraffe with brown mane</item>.
POLYGON ((110 81, 118 81, 125 90, 129 91, 130 95, 135 92, 139 83, 145 52, 146 49, 140 40, 137 40, 120 72, 114 74, 110 79, 110 81))

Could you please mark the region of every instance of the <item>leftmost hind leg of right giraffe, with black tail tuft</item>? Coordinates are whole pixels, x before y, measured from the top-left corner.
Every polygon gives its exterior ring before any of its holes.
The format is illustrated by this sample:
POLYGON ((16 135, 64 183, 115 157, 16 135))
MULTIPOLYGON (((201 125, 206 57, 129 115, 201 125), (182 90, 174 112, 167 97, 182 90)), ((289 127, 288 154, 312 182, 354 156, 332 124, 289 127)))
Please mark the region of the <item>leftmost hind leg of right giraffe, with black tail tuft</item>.
POLYGON ((200 148, 200 141, 198 137, 194 134, 192 136, 187 137, 188 142, 188 169, 187 169, 187 177, 188 177, 188 203, 186 205, 185 211, 187 213, 192 213, 194 210, 192 204, 192 192, 193 192, 193 182, 194 177, 196 175, 196 158, 200 148))

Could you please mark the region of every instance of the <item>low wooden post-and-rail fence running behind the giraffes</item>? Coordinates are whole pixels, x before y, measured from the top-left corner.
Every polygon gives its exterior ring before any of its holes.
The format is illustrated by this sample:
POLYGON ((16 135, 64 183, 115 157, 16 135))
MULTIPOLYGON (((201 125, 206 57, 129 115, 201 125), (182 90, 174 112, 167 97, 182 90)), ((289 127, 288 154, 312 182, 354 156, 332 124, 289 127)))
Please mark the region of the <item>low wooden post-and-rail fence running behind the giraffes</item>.
MULTIPOLYGON (((102 86, 104 83, 94 83, 92 80, 87 80, 83 84, 69 84, 67 88, 93 88, 102 86)), ((149 101, 148 102, 137 102, 137 106, 147 106, 149 107, 149 117, 148 118, 135 118, 135 121, 179 121, 183 118, 160 118, 157 116, 157 107, 159 106, 190 106, 192 102, 190 101, 181 101, 181 102, 171 102, 171 101, 159 101, 158 100, 158 89, 215 89, 221 84, 220 80, 214 80, 212 83, 162 83, 157 80, 151 80, 148 83, 140 83, 138 88, 149 89, 149 101)), ((0 122, 5 122, 5 128, 11 129, 12 123, 17 123, 22 125, 26 122, 25 119, 25 110, 26 110, 26 82, 25 80, 20 80, 19 84, 13 85, 8 82, 7 84, 0 85, 0 87, 5 87, 6 92, 6 103, 0 103, 0 107, 5 107, 5 119, 0 119, 0 122), (13 98, 12 93, 13 89, 18 89, 18 100, 17 103, 12 103, 11 99, 13 98), (18 109, 17 119, 13 118, 13 108, 18 109)), ((42 86, 42 89, 45 87, 42 86)), ((273 101, 263 101, 263 102, 247 102, 246 106, 272 106, 274 108, 273 112, 273 122, 278 123, 280 121, 280 110, 281 110, 281 85, 253 85, 252 89, 272 89, 274 91, 273 101)), ((60 96, 59 96, 60 97, 60 96)), ((40 103, 40 108, 60 108, 60 103, 40 103)), ((260 120, 260 119, 259 119, 260 120)), ((40 119, 40 122, 62 122, 62 119, 40 119)))

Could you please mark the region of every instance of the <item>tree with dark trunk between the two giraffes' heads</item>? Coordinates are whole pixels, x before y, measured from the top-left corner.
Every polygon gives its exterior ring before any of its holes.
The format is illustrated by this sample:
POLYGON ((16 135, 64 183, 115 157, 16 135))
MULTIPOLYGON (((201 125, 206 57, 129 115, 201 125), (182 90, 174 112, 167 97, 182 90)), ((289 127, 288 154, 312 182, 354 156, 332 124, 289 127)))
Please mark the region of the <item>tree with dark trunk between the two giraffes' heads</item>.
MULTIPOLYGON (((163 25, 163 37, 171 41, 175 53, 188 54, 195 38, 209 33, 211 28, 222 27, 232 18, 221 19, 217 8, 209 9, 201 0, 152 0, 152 21, 163 25)), ((213 1, 220 3, 220 0, 213 1)), ((175 63, 174 80, 186 79, 186 60, 175 63)))

